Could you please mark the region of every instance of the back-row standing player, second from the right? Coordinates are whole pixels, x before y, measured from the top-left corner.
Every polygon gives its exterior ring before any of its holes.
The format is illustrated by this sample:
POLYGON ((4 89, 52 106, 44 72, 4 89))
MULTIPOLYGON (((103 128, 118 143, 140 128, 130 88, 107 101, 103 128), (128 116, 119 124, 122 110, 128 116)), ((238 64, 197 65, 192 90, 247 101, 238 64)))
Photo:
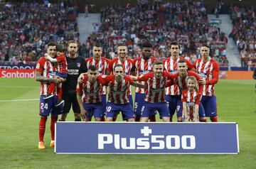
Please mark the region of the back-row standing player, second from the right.
MULTIPOLYGON (((186 60, 185 58, 180 57, 179 54, 179 44, 174 41, 170 45, 170 52, 171 57, 166 58, 163 60, 164 62, 164 70, 170 73, 176 73, 178 72, 178 60, 186 60)), ((193 68, 193 65, 186 60, 186 63, 188 65, 188 69, 193 68)), ((177 107, 177 101, 179 97, 181 96, 181 92, 178 89, 178 85, 174 84, 171 87, 166 88, 166 102, 169 104, 169 110, 170 110, 170 121, 172 121, 172 118, 174 116, 174 113, 176 111, 177 107)), ((178 121, 182 121, 181 119, 178 119, 178 121)))

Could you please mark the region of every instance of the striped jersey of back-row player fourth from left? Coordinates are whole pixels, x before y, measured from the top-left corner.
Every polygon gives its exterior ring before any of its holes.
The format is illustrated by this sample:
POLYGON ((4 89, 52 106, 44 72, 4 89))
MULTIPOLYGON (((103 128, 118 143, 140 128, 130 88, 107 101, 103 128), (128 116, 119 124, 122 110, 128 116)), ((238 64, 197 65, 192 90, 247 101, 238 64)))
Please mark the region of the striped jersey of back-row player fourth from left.
MULTIPOLYGON (((117 64, 121 64, 123 66, 124 75, 131 75, 132 67, 134 66, 132 59, 127 59, 124 62, 121 62, 118 58, 114 58, 113 60, 110 61, 110 65, 109 67, 107 67, 107 71, 113 73, 114 66, 117 64)), ((129 91, 129 95, 132 95, 131 87, 129 87, 128 91, 129 91)))

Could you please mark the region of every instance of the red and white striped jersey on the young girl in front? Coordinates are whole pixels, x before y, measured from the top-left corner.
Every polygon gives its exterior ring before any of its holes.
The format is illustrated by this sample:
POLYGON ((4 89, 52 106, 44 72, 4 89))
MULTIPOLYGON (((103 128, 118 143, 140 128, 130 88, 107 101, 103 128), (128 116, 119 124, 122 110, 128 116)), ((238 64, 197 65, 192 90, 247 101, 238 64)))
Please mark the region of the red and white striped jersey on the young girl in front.
POLYGON ((181 102, 186 102, 186 108, 191 115, 191 119, 193 119, 193 114, 195 113, 195 105, 200 104, 201 97, 201 93, 197 90, 190 92, 188 89, 185 89, 181 94, 181 102))

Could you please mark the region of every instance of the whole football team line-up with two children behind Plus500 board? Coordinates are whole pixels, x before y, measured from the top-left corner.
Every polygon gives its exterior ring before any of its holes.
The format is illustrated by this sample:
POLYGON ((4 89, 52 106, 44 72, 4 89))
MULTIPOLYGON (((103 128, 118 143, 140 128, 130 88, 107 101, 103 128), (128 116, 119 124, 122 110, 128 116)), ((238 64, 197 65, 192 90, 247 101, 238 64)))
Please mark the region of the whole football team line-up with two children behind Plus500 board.
POLYGON ((191 64, 178 55, 179 44, 169 46, 171 57, 156 60, 152 46, 142 45, 142 57, 127 57, 126 45, 117 47, 117 58, 102 57, 102 46, 96 43, 93 56, 78 56, 78 43, 49 43, 46 55, 36 65, 36 80, 41 82, 38 148, 43 144, 47 117, 51 114, 51 143, 54 126, 60 115, 65 118, 73 107, 75 121, 115 121, 122 113, 126 121, 156 121, 156 112, 167 122, 174 113, 177 121, 218 121, 214 84, 218 82, 218 63, 210 58, 210 48, 202 45, 201 58, 191 64), (131 85, 136 87, 133 105, 131 85), (107 90, 106 87, 109 87, 107 90), (108 91, 108 99, 106 97, 108 91))

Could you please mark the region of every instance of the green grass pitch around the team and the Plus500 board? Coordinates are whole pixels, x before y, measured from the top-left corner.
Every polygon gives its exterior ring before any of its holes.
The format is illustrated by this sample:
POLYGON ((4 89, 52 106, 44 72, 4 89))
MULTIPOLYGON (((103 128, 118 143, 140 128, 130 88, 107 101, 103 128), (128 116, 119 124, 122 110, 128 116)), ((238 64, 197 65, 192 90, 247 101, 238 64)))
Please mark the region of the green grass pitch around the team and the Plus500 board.
MULTIPOLYGON (((256 168, 255 80, 220 80, 215 85, 219 121, 239 125, 238 155, 56 155, 38 150, 39 82, 0 79, 0 168, 256 168)), ((73 121, 73 113, 68 114, 73 121)))

